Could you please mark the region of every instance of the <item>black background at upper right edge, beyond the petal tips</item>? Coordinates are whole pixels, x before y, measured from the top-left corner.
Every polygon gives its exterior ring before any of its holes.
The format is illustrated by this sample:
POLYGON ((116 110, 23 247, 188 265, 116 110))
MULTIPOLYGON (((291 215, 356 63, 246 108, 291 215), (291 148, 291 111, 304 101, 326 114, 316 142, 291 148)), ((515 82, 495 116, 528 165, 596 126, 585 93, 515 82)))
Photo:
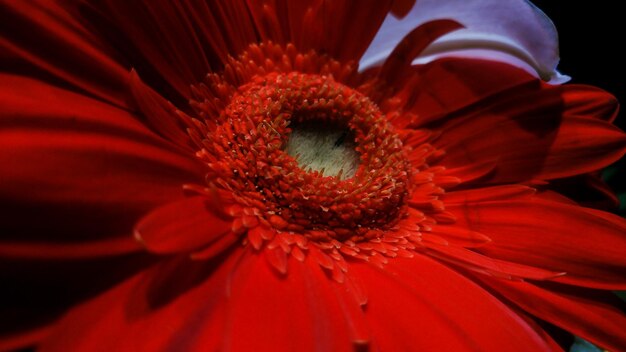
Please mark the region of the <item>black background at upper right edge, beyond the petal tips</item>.
MULTIPOLYGON (((617 97, 622 111, 615 124, 626 130, 626 18, 618 1, 533 0, 559 32, 559 70, 572 83, 591 84, 617 97)), ((604 178, 620 195, 626 215, 626 158, 605 170, 604 178)))

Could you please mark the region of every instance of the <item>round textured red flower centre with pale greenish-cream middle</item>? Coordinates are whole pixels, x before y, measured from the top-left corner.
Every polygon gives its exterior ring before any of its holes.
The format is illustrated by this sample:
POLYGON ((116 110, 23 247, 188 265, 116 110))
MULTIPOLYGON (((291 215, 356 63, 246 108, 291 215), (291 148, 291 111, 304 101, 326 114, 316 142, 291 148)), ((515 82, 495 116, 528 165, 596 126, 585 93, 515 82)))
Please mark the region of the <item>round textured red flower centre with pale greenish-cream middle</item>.
POLYGON ((254 76, 205 141, 209 180, 278 230, 370 238, 406 209, 400 139, 373 102, 332 76, 254 76))

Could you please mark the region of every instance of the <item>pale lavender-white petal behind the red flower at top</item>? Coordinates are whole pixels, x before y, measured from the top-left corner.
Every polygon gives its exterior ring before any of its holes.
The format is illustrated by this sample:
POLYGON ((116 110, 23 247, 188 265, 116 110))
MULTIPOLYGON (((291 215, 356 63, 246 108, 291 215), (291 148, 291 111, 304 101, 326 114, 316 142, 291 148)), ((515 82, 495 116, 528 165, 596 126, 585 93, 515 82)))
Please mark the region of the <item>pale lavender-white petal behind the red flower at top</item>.
POLYGON ((531 72, 546 81, 567 80, 556 70, 559 53, 554 25, 541 10, 525 0, 417 0, 402 20, 391 15, 385 19, 361 58, 360 66, 381 64, 407 33, 435 19, 453 19, 466 29, 436 40, 418 58, 420 62, 442 56, 505 62, 514 57, 525 62, 525 67, 532 67, 531 72))

